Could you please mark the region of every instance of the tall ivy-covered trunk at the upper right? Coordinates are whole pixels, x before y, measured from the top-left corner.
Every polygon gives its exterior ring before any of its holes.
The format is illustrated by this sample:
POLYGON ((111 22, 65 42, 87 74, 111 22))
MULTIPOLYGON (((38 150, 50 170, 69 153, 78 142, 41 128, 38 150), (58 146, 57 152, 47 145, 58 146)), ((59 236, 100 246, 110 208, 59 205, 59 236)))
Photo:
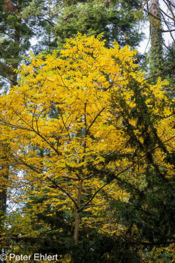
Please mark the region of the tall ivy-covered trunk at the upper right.
MULTIPOLYGON (((149 75, 152 77, 152 82, 155 83, 158 75, 163 70, 163 49, 162 49, 162 33, 161 21, 159 15, 159 2, 158 0, 151 0, 151 15, 150 20, 150 71, 149 75)), ((153 84, 152 83, 152 84, 153 84)))

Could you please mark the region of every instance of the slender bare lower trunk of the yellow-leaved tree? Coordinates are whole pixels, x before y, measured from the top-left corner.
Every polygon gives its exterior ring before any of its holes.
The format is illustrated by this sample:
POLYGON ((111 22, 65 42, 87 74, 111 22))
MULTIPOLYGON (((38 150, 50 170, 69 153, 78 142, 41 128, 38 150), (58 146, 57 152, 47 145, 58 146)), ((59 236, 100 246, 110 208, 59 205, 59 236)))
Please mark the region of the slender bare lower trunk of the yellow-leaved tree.
MULTIPOLYGON (((78 183, 78 191, 77 191, 77 206, 80 207, 80 201, 81 201, 81 190, 82 190, 82 180, 78 183)), ((74 227, 74 240, 77 244, 78 242, 78 233, 79 233, 79 211, 75 211, 75 227, 74 227)))

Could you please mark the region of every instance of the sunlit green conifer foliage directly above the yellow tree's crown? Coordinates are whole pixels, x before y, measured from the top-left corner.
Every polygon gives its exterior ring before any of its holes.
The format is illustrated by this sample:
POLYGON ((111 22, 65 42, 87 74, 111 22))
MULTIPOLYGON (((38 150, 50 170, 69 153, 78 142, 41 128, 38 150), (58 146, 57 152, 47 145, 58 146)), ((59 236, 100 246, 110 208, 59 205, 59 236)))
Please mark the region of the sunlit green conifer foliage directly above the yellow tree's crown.
MULTIPOLYGON (((67 2, 66 2, 67 3, 67 2)), ((137 11, 135 1, 72 1, 57 18, 55 37, 58 46, 64 38, 74 37, 77 32, 87 36, 104 33, 107 45, 117 41, 119 45, 136 47, 142 35, 137 33, 137 11)))

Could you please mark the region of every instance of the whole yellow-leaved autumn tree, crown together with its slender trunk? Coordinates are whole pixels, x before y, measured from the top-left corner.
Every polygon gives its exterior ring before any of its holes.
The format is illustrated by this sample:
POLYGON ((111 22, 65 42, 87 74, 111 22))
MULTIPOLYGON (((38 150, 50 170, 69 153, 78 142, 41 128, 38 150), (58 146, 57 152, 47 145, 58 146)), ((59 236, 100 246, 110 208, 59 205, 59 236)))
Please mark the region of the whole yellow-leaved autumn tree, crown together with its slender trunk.
POLYGON ((151 180, 174 177, 174 116, 165 82, 148 85, 136 51, 117 43, 107 49, 101 36, 78 34, 60 52, 30 53, 18 85, 0 98, 0 143, 8 145, 1 155, 9 161, 1 166, 11 167, 8 187, 21 189, 11 200, 30 203, 33 214, 47 205, 48 216, 55 209, 72 214, 76 244, 83 226, 121 240, 129 234, 136 244, 140 222, 115 218, 111 204, 129 207, 140 198, 146 211, 151 180), (31 196, 46 198, 38 205, 31 196))

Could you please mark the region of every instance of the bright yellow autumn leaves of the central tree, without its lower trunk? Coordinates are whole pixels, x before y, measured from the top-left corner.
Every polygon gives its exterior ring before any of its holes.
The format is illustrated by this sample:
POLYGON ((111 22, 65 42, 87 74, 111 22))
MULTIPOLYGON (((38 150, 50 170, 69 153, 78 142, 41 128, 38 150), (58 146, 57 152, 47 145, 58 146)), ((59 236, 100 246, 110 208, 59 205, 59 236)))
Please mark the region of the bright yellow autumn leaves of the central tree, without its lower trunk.
MULTIPOLYGON (((147 85, 144 74, 136 71, 136 51, 119 49, 116 43, 107 49, 100 38, 78 34, 76 39, 67 39, 60 52, 36 57, 30 54, 29 65, 21 65, 18 85, 0 98, 0 155, 6 156, 5 164, 11 167, 7 187, 21 188, 26 201, 34 193, 47 196, 43 209, 49 204, 73 214, 87 207, 89 215, 98 215, 96 222, 110 234, 109 224, 103 219, 109 201, 127 202, 129 195, 121 191, 115 179, 106 182, 101 170, 108 168, 116 176, 124 176, 133 166, 126 157, 106 161, 114 153, 124 156, 133 151, 126 144, 128 136, 118 117, 122 109, 116 101, 113 111, 111 94, 118 94, 129 110, 135 106, 133 90, 129 89, 131 79, 139 83, 143 95, 150 92, 153 99, 148 98, 147 105, 152 108, 154 100, 155 114, 162 114, 157 130, 164 140, 171 131, 164 116, 169 117, 171 112, 160 109, 162 99, 167 100, 161 90, 164 83, 147 85)), ((172 124, 174 118, 169 118, 172 124)), ((135 134, 139 136, 139 131, 135 134)), ((170 148, 174 140, 168 143, 170 148)), ((157 162, 162 161, 157 150, 157 162)), ((139 184, 135 178, 132 180, 139 184)), ((36 204, 32 205, 37 209, 36 204)), ((90 216, 81 220, 91 222, 90 216)), ((117 227, 120 234, 125 227, 114 222, 111 234, 117 227)))

